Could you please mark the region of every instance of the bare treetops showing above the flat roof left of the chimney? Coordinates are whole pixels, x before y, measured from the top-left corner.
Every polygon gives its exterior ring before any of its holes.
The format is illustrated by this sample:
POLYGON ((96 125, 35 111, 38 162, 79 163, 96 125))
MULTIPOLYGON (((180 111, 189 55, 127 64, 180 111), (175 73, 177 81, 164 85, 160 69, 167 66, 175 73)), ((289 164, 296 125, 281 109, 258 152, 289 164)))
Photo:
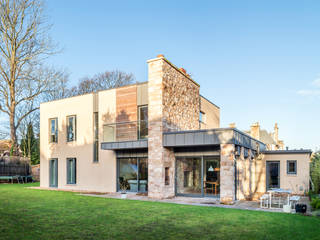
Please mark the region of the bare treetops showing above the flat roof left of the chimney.
POLYGON ((119 70, 106 71, 98 73, 89 78, 83 78, 79 81, 78 86, 73 87, 70 92, 73 96, 81 95, 99 90, 121 87, 133 83, 134 76, 131 73, 125 73, 119 70))

